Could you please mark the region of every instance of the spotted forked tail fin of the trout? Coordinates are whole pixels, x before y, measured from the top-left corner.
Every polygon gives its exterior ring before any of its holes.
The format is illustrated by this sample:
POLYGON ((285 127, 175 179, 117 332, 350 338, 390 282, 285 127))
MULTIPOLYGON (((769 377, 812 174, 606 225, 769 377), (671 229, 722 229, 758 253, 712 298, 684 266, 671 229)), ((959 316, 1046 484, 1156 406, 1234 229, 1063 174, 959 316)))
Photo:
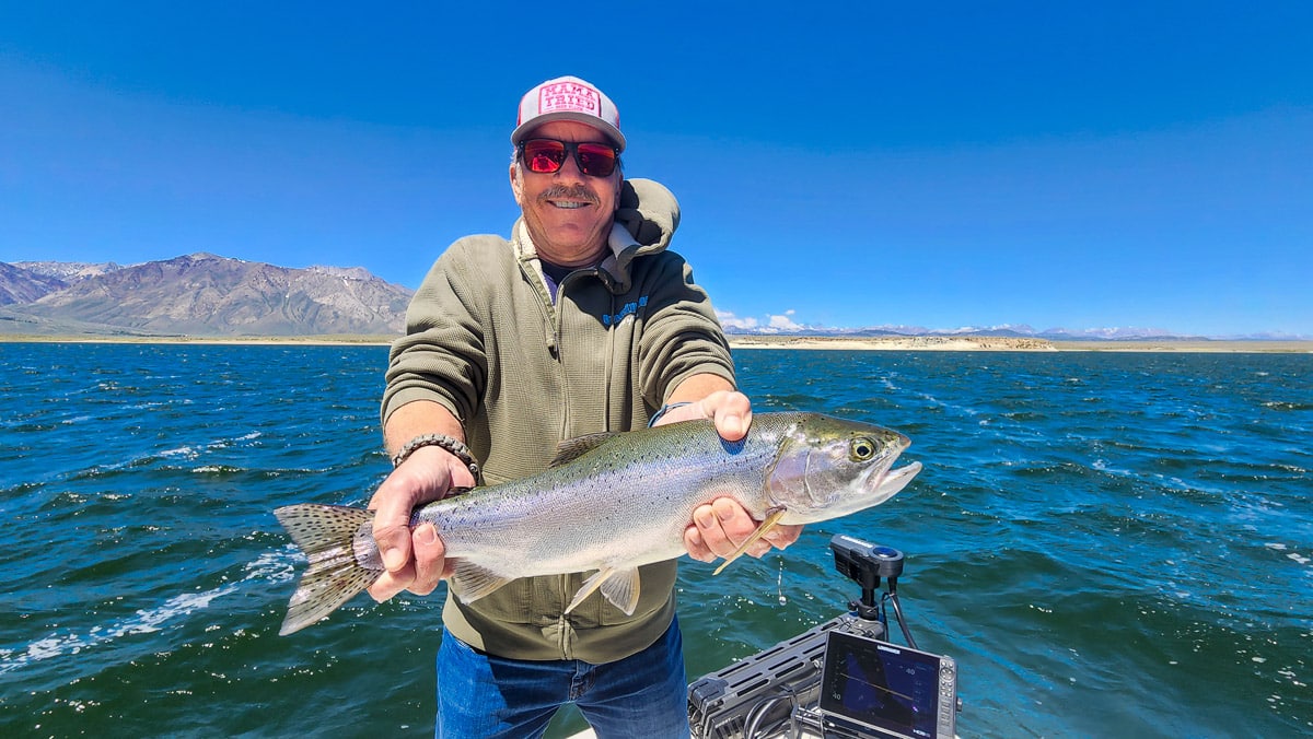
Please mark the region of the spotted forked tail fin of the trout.
POLYGON ((299 631, 328 616, 341 604, 368 588, 383 572, 373 536, 374 512, 343 505, 288 505, 273 512, 291 534, 310 567, 301 576, 297 592, 288 601, 288 617, 280 637, 299 631), (360 541, 362 551, 357 551, 360 541))

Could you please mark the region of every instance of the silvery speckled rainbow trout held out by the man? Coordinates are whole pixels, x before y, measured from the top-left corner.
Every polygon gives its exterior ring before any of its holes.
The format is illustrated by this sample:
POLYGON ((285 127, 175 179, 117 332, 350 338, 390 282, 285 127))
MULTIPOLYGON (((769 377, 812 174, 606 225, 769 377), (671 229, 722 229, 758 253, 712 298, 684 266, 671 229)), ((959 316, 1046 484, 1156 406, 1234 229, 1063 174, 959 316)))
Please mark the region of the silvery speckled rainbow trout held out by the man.
MULTIPOLYGON (((906 436, 817 413, 756 413, 727 442, 697 420, 566 441, 537 475, 475 488, 415 509, 453 558, 449 587, 473 602, 516 578, 596 571, 566 613, 593 591, 628 614, 638 566, 685 554, 693 509, 722 496, 762 521, 729 564, 779 524, 813 524, 884 503, 920 471, 892 470, 906 436)), ((278 521, 310 560, 280 634, 298 631, 368 588, 383 564, 373 512, 289 505, 278 521)), ((720 570, 717 570, 720 572, 720 570)))

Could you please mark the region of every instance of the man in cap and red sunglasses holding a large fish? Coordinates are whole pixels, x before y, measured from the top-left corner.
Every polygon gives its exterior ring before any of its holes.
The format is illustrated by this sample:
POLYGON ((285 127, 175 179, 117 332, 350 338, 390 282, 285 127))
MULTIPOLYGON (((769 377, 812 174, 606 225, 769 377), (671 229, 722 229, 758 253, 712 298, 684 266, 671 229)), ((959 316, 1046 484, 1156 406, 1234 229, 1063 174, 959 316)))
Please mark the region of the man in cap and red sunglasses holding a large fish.
MULTIPOLYGON (((369 588, 379 601, 427 595, 450 574, 436 529, 410 530, 410 512, 475 484, 478 471, 487 484, 517 479, 544 470, 563 440, 650 419, 712 419, 730 441, 751 423, 706 294, 666 249, 674 196, 621 175, 611 98, 578 77, 542 83, 523 97, 511 143, 521 209, 511 239, 452 244, 393 345, 382 416, 397 469, 370 501, 387 568, 369 588)), ((684 538, 710 562, 755 528, 720 499, 695 512, 684 538)), ((798 532, 777 528, 748 553, 783 549, 798 532)), ((469 605, 448 596, 437 735, 541 735, 566 702, 601 736, 688 734, 675 563, 641 568, 633 616, 599 593, 565 614, 582 579, 516 580, 469 605)))

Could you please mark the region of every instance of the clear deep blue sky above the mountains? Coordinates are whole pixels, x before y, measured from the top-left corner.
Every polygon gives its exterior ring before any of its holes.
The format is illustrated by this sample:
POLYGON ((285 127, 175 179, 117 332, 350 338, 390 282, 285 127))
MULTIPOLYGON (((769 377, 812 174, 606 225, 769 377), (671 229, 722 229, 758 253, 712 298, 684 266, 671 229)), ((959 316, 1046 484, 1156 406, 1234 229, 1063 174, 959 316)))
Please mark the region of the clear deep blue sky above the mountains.
POLYGON ((0 261, 415 287, 574 74, 727 323, 1313 336, 1313 3, 376 5, 0 0, 0 261))

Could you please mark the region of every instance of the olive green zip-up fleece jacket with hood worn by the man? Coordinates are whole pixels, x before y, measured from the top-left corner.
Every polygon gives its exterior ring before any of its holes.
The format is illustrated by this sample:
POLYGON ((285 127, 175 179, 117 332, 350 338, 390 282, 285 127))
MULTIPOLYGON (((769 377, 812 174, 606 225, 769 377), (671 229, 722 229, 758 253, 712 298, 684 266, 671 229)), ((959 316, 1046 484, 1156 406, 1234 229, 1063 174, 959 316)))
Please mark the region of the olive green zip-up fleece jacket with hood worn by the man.
MULTIPOLYGON (((678 226, 670 190, 626 180, 609 256, 565 277, 555 303, 523 218, 509 242, 479 235, 452 244, 393 344, 383 423, 406 403, 441 403, 465 427, 483 484, 496 484, 542 471, 563 440, 642 428, 685 378, 734 382, 706 293, 667 251, 678 226)), ((544 511, 542 525, 571 522, 544 511)), ((571 574, 515 580, 473 604, 449 595, 442 621, 499 656, 612 662, 655 642, 675 613, 675 562, 639 574, 633 616, 599 593, 565 614, 584 579, 571 574)))

